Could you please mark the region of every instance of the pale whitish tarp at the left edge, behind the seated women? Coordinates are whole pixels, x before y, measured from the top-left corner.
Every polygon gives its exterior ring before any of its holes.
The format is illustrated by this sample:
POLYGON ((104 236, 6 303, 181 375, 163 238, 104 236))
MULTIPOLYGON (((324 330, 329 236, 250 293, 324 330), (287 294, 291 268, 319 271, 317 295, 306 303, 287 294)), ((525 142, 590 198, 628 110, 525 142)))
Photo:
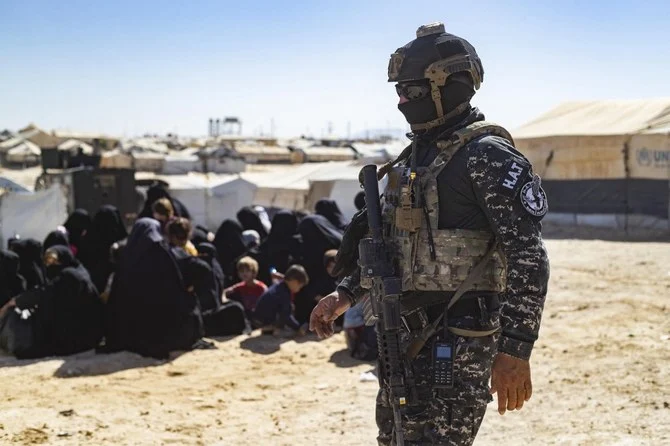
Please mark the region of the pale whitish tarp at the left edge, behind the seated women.
POLYGON ((17 234, 42 241, 67 215, 67 199, 59 185, 35 193, 5 194, 0 198, 2 246, 17 234))

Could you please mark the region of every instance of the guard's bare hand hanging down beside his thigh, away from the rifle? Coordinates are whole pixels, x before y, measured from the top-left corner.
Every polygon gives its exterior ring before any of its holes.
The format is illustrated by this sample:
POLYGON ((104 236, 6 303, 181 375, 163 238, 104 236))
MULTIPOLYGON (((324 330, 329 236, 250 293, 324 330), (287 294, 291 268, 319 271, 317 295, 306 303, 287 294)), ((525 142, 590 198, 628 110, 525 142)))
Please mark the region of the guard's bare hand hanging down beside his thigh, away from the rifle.
POLYGON ((498 413, 521 410, 533 394, 530 363, 524 359, 498 353, 491 369, 491 394, 498 393, 498 413))

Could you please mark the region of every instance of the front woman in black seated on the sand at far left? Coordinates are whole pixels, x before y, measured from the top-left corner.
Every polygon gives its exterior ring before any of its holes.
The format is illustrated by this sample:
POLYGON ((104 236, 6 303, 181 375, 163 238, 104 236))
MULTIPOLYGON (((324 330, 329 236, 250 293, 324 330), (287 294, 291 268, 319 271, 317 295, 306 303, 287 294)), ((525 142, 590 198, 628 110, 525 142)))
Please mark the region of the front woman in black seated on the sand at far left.
POLYGON ((40 358, 97 347, 103 334, 102 301, 88 272, 67 246, 47 249, 44 264, 47 284, 12 299, 2 310, 5 348, 19 358, 40 358), (17 330, 30 339, 14 342, 17 330), (19 344, 21 348, 12 348, 19 344))

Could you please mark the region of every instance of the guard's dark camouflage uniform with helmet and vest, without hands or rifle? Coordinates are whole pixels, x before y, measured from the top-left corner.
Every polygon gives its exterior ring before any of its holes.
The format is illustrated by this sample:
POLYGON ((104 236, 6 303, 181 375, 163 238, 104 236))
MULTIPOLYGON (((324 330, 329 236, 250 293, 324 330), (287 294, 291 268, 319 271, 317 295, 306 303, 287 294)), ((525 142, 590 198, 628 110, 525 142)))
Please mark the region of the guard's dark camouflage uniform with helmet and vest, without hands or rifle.
MULTIPOLYGON (((405 387, 413 388, 406 389, 401 410, 405 444, 469 445, 492 400, 488 383, 496 352, 527 360, 538 336, 549 278, 540 233, 546 195, 511 136, 483 124, 484 116, 471 107, 484 68, 468 41, 447 33, 439 22, 422 26, 416 39, 391 55, 388 75, 396 83, 398 109, 414 132, 411 158, 408 147, 396 160, 410 169, 393 169, 395 163, 380 169, 389 178, 382 209, 384 249, 402 282, 407 331, 400 335, 401 353, 416 339, 416 326, 407 323, 413 309, 424 312, 423 326, 426 318, 431 323, 443 318, 432 339, 413 359, 405 359, 404 374, 412 375, 404 377, 405 387), (471 131, 475 128, 479 130, 471 131), (497 253, 489 256, 494 252, 486 248, 491 239, 497 253), (479 276, 477 282, 469 280, 474 276, 479 276), (459 290, 459 283, 468 286, 459 290), (461 295, 465 288, 469 291, 461 295), (460 299, 447 311, 455 294, 460 299), (436 336, 455 347, 453 387, 446 389, 432 382, 436 336)), ((353 268, 352 246, 367 230, 362 216, 354 217, 336 262, 346 276, 338 291, 352 304, 372 281, 364 277, 362 286, 360 268, 353 268)), ((395 354, 395 342, 389 345, 382 357, 390 358, 391 349, 395 354)), ((382 381, 389 373, 385 370, 382 381)), ((395 441, 395 424, 381 387, 378 441, 389 445, 395 441)))

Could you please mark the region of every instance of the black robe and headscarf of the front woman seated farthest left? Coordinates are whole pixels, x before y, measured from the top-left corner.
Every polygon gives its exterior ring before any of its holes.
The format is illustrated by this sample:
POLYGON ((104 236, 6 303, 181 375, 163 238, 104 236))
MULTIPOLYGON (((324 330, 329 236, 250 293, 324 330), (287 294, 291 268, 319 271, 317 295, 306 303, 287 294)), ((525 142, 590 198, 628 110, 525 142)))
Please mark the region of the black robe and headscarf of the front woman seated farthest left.
POLYGON ((32 357, 71 355, 97 347, 103 335, 103 304, 86 269, 67 246, 54 246, 58 265, 48 268, 44 288, 22 294, 18 308, 34 307, 32 357))

